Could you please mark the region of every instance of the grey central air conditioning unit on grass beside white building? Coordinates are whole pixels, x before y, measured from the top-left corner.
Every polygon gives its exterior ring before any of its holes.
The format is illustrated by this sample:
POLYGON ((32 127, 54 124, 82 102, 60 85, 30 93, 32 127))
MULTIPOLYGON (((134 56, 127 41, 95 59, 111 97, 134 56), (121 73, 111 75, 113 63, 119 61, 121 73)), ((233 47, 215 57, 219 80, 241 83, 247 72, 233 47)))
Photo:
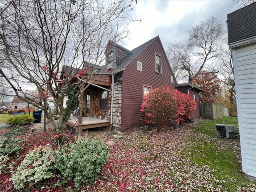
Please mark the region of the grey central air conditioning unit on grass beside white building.
POLYGON ((226 125, 226 124, 215 124, 216 132, 218 137, 223 138, 236 138, 235 127, 234 125, 226 125))

